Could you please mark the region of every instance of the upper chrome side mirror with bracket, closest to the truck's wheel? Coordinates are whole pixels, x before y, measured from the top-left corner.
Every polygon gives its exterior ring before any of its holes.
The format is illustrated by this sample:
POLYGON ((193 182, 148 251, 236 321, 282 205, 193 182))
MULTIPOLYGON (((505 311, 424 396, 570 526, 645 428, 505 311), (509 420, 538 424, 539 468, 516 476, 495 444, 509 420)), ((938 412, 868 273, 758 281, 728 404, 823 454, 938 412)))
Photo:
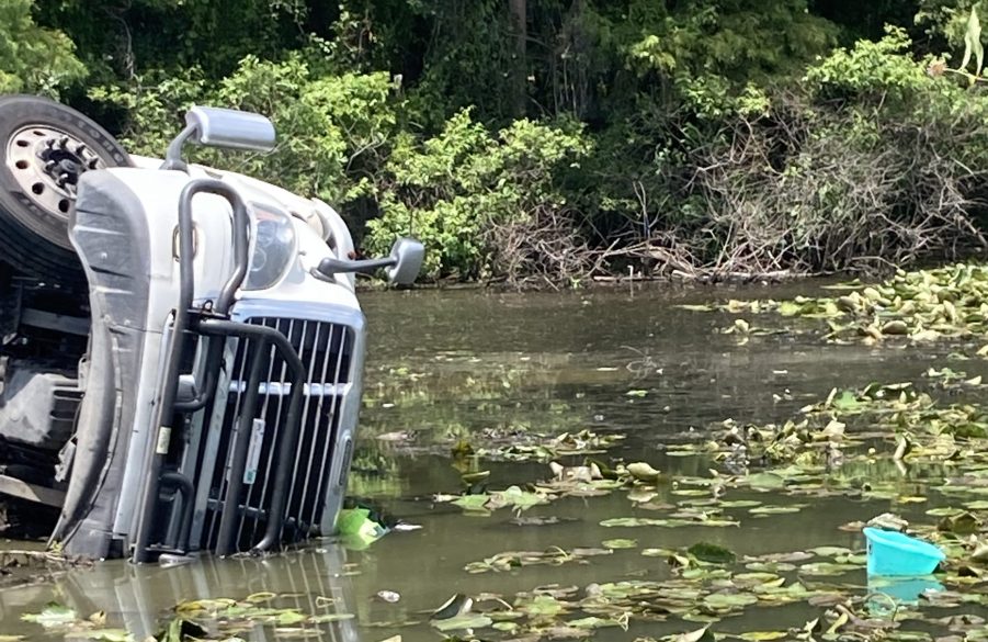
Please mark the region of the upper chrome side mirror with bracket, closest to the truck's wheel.
POLYGON ((168 146, 161 169, 185 169, 182 147, 186 142, 208 147, 271 151, 277 144, 274 124, 251 112, 193 106, 185 113, 185 128, 168 146))

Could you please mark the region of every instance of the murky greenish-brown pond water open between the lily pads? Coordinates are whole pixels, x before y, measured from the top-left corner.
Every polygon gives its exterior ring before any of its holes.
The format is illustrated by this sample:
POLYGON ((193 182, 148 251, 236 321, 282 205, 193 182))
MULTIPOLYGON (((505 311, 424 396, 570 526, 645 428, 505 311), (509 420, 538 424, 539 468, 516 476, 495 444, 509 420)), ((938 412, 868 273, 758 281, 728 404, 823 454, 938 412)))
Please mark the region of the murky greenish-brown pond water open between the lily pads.
MULTIPOLYGON (((31 639, 60 639, 21 622, 49 600, 80 615, 105 610, 107 626, 125 627, 137 640, 155 632, 160 616, 175 602, 202 597, 243 598, 258 592, 298 594, 291 599, 306 612, 352 613, 354 619, 321 624, 323 640, 378 641, 401 634, 406 642, 438 640, 425 620, 455 593, 496 593, 511 601, 518 592, 538 586, 576 586, 624 579, 662 581, 670 576, 661 557, 643 549, 689 547, 700 540, 740 555, 786 553, 813 547, 863 549, 860 533, 839 527, 886 510, 930 521, 924 511, 938 504, 925 487, 929 471, 900 471, 892 462, 853 464, 841 474, 882 485, 888 496, 928 496, 928 502, 898 504, 853 493, 803 498, 809 506, 794 514, 756 517, 747 508, 726 513, 740 527, 606 528, 618 517, 662 517, 637 508, 626 493, 566 497, 535 506, 523 516, 557 517, 557 523, 521 526, 510 509, 487 517, 464 515, 433 500, 435 494, 462 491, 451 465, 450 447, 475 435, 561 432, 589 428, 627 435, 607 457, 647 461, 671 477, 706 476, 717 468, 707 458, 669 457, 670 443, 695 438, 711 423, 781 420, 833 386, 871 381, 918 380, 931 365, 956 364, 956 345, 935 350, 828 346, 796 324, 790 334, 752 337, 747 342, 718 333, 731 319, 673 307, 717 297, 785 296, 809 293, 810 285, 772 290, 614 290, 592 293, 489 294, 475 291, 368 294, 368 405, 362 416, 362 448, 351 491, 382 502, 404 521, 422 528, 391 533, 364 551, 320 543, 309 551, 266 561, 205 561, 174 568, 130 567, 106 563, 50 582, 0 592, 0 632, 31 639), (628 395, 640 391, 641 396, 628 395), (637 547, 591 556, 586 563, 530 566, 501 573, 468 574, 464 566, 502 551, 600 548, 615 538, 637 547), (397 604, 375 598, 382 590, 400 594, 397 604), (328 600, 319 597, 332 598, 328 600), (413 626, 398 626, 409 620, 413 626)), ((764 319, 764 323, 779 323, 764 319)), ((964 364, 978 374, 983 365, 964 364)), ((598 455, 606 459, 605 455, 598 455)), ((583 458, 563 460, 577 464, 583 458)), ((487 463, 490 488, 504 488, 552 476, 545 463, 487 463)), ((935 472, 934 472, 935 473, 935 472)), ((685 486, 661 486, 651 504, 689 502, 685 486)), ((753 491, 731 491, 729 499, 792 504, 753 491)), ((669 513, 669 510, 666 510, 669 513)), ((805 578, 809 584, 840 584, 840 592, 865 594, 863 570, 839 579, 805 578)), ((717 632, 780 630, 802 626, 824 609, 806 602, 751 608, 715 624, 717 632)), ((981 607, 965 612, 986 616, 981 607)), ((599 630, 598 640, 632 640, 699 628, 669 618, 633 619, 628 630, 599 630)), ((292 638, 269 629, 241 633, 252 640, 292 638)), ((510 634, 497 633, 500 638, 510 634)))

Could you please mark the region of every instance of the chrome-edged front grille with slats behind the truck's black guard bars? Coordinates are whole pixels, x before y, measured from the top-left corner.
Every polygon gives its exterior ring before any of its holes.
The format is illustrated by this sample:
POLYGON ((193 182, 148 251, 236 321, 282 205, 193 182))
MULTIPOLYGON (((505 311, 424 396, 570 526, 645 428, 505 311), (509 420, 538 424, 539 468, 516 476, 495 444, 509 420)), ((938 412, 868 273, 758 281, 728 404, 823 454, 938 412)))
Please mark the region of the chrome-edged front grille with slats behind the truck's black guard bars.
MULTIPOLYGON (((279 317, 254 317, 245 323, 262 325, 281 331, 298 352, 306 368, 303 391, 300 430, 292 471, 292 484, 286 503, 283 539, 297 541, 307 537, 320 523, 330 465, 336 448, 340 408, 345 384, 351 380, 353 333, 351 328, 318 320, 279 317)), ((229 482, 235 433, 239 426, 247 394, 248 364, 257 349, 266 349, 265 372, 259 388, 260 397, 253 414, 251 446, 245 485, 239 500, 239 526, 236 531, 237 550, 249 549, 263 537, 268 511, 272 503, 274 468, 279 458, 280 438, 288 410, 292 383, 284 359, 272 347, 260 348, 253 340, 242 340, 232 361, 223 429, 219 436, 217 465, 213 470, 209 499, 202 543, 214 549, 217 544, 222 498, 229 482), (220 462, 223 462, 220 464, 220 462)))

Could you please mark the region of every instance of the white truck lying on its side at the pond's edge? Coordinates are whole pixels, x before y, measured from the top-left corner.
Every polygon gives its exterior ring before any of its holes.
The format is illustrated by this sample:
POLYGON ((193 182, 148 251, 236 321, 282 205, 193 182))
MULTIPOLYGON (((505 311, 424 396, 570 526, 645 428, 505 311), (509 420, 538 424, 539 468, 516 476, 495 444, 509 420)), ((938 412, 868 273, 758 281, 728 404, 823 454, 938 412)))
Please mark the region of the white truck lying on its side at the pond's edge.
POLYGON ((268 151, 257 114, 193 108, 163 159, 65 105, 0 97, 0 494, 56 507, 89 559, 263 552, 333 528, 364 360, 328 204, 186 164, 268 151))

